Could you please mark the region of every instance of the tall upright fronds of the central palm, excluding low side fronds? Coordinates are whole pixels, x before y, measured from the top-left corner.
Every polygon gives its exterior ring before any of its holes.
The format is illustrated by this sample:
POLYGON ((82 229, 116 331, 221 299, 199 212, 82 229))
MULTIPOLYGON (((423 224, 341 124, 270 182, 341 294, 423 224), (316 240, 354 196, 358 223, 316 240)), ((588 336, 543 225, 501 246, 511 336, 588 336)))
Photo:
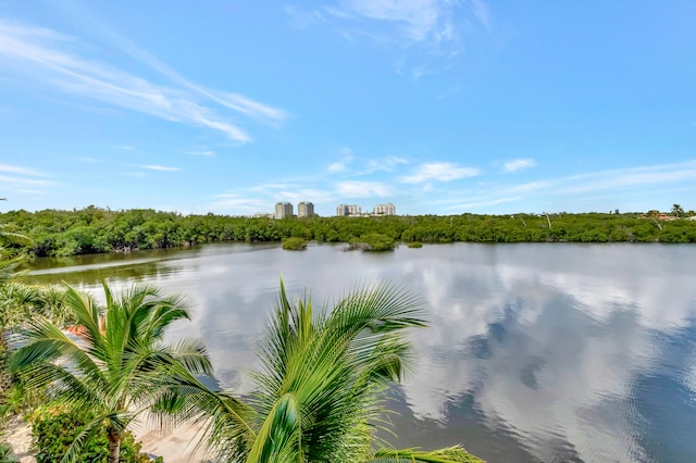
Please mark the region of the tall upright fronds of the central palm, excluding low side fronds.
POLYGON ((386 388, 410 362, 403 329, 425 325, 418 300, 394 286, 366 286, 314 313, 307 296, 290 301, 281 283, 273 315, 252 374, 260 430, 249 461, 286 453, 363 461, 383 423, 386 388))

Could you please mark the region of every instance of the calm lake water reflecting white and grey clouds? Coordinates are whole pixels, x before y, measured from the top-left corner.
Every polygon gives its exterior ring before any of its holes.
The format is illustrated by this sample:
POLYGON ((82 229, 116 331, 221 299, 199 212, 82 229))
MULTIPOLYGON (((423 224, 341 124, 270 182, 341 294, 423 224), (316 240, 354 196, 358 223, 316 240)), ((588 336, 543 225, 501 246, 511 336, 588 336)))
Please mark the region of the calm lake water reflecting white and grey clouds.
POLYGON ((438 245, 389 253, 314 245, 38 260, 32 279, 184 293, 224 387, 248 391, 281 275, 314 303, 395 281, 431 326, 393 392, 399 447, 463 443, 490 462, 696 461, 696 246, 438 245))

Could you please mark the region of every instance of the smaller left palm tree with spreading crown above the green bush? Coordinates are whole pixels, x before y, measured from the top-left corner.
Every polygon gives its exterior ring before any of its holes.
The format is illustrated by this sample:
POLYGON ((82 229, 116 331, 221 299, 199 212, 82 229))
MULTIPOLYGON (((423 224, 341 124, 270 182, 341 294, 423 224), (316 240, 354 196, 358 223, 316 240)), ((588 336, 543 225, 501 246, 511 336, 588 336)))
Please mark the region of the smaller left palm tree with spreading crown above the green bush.
POLYGON ((13 343, 10 367, 29 387, 48 387, 58 400, 94 412, 63 461, 75 461, 85 439, 105 429, 110 463, 119 461, 121 440, 133 420, 148 411, 167 387, 169 371, 212 374, 204 346, 163 342, 166 328, 189 318, 183 301, 156 288, 135 285, 120 298, 103 284, 105 304, 67 286, 65 304, 76 321, 69 336, 44 316, 26 321, 13 343))

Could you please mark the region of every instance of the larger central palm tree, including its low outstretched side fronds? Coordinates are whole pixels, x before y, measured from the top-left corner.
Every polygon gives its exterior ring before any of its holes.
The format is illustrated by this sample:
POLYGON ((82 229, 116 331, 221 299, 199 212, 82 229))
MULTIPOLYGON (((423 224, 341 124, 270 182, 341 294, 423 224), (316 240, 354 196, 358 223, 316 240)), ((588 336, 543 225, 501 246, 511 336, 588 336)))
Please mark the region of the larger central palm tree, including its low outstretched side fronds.
POLYGON ((387 388, 411 359, 405 329, 421 326, 418 301, 395 287, 362 288, 314 314, 311 299, 290 303, 281 283, 248 403, 184 374, 181 416, 208 421, 209 447, 228 462, 480 462, 460 447, 374 450, 387 388))

